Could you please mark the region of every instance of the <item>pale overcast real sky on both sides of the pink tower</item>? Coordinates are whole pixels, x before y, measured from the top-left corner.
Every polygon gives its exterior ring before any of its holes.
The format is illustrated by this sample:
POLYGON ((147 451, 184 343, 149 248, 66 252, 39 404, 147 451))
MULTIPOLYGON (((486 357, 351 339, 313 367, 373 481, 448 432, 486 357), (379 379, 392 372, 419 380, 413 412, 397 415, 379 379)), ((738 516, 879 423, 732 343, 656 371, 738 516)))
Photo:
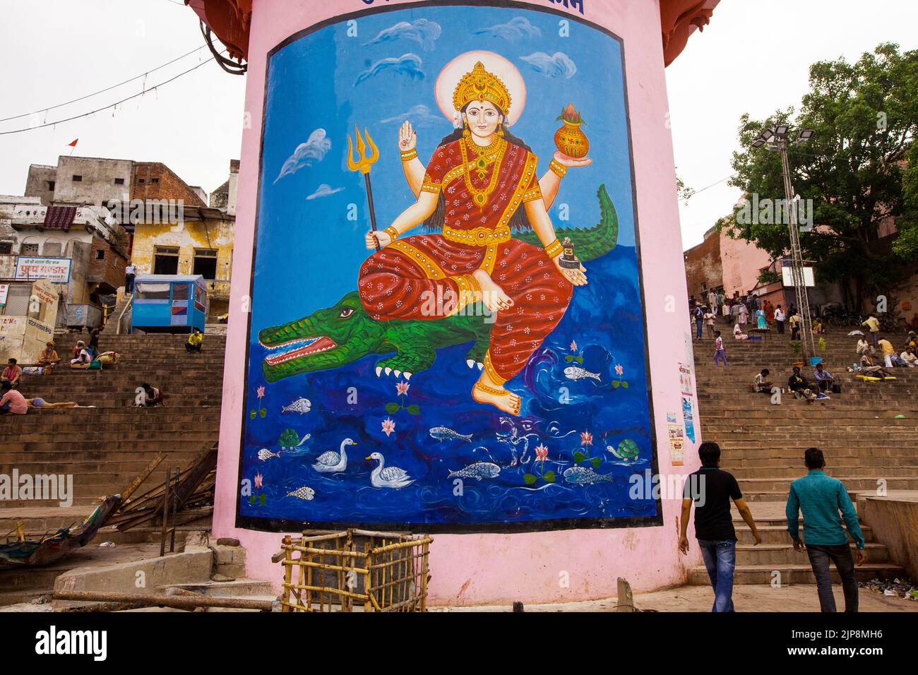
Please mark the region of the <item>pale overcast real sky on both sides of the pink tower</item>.
MULTIPOLYGON (((0 0, 0 17, 0 118, 90 94, 203 44, 195 14, 177 0, 0 0)), ((679 204, 683 247, 700 243, 739 197, 723 179, 731 174, 740 115, 799 107, 814 61, 854 61, 884 40, 915 49, 916 26, 914 0, 722 0, 711 25, 666 69, 677 174, 696 190, 707 187, 679 204)), ((21 195, 28 164, 56 164, 76 138, 76 155, 166 163, 211 192, 240 154, 245 78, 209 61, 202 49, 151 73, 148 89, 206 62, 114 110, 0 134, 0 194, 21 195)), ((107 106, 143 84, 141 78, 47 116, 0 121, 0 131, 107 106)))

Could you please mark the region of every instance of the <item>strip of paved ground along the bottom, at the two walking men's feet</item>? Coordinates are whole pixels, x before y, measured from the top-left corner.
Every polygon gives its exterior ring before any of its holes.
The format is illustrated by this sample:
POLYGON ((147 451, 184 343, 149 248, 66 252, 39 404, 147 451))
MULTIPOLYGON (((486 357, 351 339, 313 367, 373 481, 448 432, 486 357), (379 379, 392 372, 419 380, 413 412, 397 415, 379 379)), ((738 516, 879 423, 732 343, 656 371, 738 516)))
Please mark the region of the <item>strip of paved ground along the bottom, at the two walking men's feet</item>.
MULTIPOLYGON (((706 586, 679 586, 666 591, 640 593, 634 596, 634 606, 656 612, 710 612, 713 593, 706 586)), ((835 602, 845 606, 841 586, 835 587, 835 602)), ((611 612, 615 598, 590 602, 527 605, 527 612, 611 612)), ((810 584, 784 586, 749 585, 733 588, 733 605, 737 612, 819 612, 816 587, 810 584)), ((890 598, 861 589, 861 612, 918 612, 918 602, 890 598)), ((509 612, 509 607, 431 607, 431 612, 509 612)))

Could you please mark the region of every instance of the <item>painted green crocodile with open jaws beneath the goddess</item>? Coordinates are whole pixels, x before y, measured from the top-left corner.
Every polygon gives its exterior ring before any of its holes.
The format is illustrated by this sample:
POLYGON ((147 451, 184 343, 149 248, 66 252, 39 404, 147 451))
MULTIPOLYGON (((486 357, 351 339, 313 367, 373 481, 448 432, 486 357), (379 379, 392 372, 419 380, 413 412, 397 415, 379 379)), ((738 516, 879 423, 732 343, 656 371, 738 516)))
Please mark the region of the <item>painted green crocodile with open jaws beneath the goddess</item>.
MULTIPOLYGON (((595 260, 609 253, 618 240, 619 222, 615 207, 599 186, 599 223, 588 229, 556 230, 558 239, 569 237, 582 261, 595 260)), ((522 242, 539 245, 533 231, 514 234, 522 242)), ((300 373, 329 370, 363 358, 368 354, 393 354, 376 364, 376 375, 409 378, 433 365, 436 350, 471 342, 465 354, 470 367, 484 360, 491 333, 492 318, 479 305, 468 311, 435 321, 375 321, 364 310, 357 291, 351 291, 332 307, 317 309, 308 317, 258 333, 263 347, 271 350, 262 362, 268 382, 300 373)))

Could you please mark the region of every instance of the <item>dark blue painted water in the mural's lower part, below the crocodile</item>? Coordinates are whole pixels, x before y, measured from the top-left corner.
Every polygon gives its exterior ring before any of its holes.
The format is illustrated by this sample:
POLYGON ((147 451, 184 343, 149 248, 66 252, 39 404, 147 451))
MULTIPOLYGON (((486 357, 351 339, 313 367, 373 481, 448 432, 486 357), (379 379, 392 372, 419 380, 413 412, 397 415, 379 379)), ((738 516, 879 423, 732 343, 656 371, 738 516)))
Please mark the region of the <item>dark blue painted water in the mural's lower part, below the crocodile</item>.
MULTIPOLYGON (((465 364, 467 344, 441 350, 430 370, 411 377, 409 393, 401 402, 418 405, 419 415, 405 410, 386 413, 386 403, 399 402, 399 397, 394 376, 386 377, 385 372, 382 377, 375 376, 375 363, 383 357, 380 355, 271 384, 264 383, 259 370, 253 368, 256 375, 250 378, 246 410, 259 406, 255 391, 263 385, 265 395, 260 405, 267 415, 246 419, 242 477, 253 480, 256 473, 262 475, 263 487, 253 492, 263 494, 264 503, 256 500, 250 504, 242 498, 241 514, 336 524, 517 523, 654 516, 655 501, 633 500, 628 495, 628 478, 651 467, 653 453, 635 250, 620 246, 586 266, 590 284, 575 291, 564 320, 534 357, 535 365, 531 363, 527 371, 509 382, 508 387, 523 399, 521 416, 516 419, 470 398, 478 369, 472 371, 465 364), (572 341, 577 342, 577 353, 571 350, 572 341), (564 369, 571 365, 565 360, 568 354, 582 355, 583 363, 574 363, 599 374, 600 381, 565 377, 564 369), (628 388, 612 385, 619 379, 616 365, 622 366, 621 379, 628 388), (347 402, 349 388, 357 391, 354 405, 347 402), (561 388, 568 390, 566 403, 559 401, 561 388), (310 400, 309 412, 280 413, 282 405, 299 397, 310 400), (396 424, 389 436, 382 431, 386 418, 396 424), (472 441, 437 441, 429 433, 436 426, 472 434, 472 441), (280 451, 278 437, 287 428, 294 429, 300 438, 309 433, 310 438, 294 450, 280 451), (612 477, 610 482, 565 482, 563 473, 574 466, 574 453, 584 451, 580 439, 583 431, 593 435, 589 456, 601 460, 596 473, 612 477), (337 451, 345 438, 358 445, 347 448, 349 463, 344 473, 320 474, 311 467, 321 453, 337 451), (626 438, 640 448, 633 461, 622 461, 606 449, 626 438), (535 461, 538 444, 548 447, 544 463, 535 461), (281 456, 259 460, 257 454, 262 448, 281 456), (386 466, 404 468, 414 482, 402 489, 371 487, 370 472, 376 463, 364 457, 372 452, 382 453, 386 466), (464 478, 462 494, 454 494, 455 478, 448 478, 450 470, 476 461, 497 464, 498 477, 480 481, 464 478), (539 477, 549 471, 556 476, 554 484, 537 479, 526 485, 524 474, 539 477), (286 496, 303 486, 315 491, 313 500, 286 496)), ((294 312, 290 319, 298 316, 294 312)), ((253 366, 260 365, 264 353, 257 340, 252 343, 253 366)), ((581 466, 594 468, 588 460, 581 466)))

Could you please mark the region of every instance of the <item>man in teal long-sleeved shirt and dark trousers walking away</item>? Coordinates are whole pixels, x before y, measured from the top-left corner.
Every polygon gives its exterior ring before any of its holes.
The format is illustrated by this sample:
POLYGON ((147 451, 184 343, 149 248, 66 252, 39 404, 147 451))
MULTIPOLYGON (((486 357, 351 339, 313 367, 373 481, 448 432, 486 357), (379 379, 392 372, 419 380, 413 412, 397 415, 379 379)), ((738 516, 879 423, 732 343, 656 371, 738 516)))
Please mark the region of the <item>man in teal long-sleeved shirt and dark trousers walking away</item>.
POLYGON ((788 532, 794 540, 794 550, 806 550, 810 557, 812 573, 816 577, 816 589, 819 592, 819 604, 823 612, 835 611, 835 598, 832 594, 832 574, 829 561, 832 560, 838 575, 842 578, 845 591, 845 612, 857 611, 857 578, 855 561, 851 557, 847 534, 855 540, 857 546, 857 564, 867 561, 864 551, 864 534, 857 523, 857 512, 848 497, 844 483, 825 475, 825 457, 823 451, 816 447, 808 448, 803 460, 810 472, 803 478, 797 478, 790 484, 788 495, 788 532), (806 523, 806 541, 800 534, 800 511, 806 523), (847 526, 847 534, 842 528, 842 513, 847 526))

